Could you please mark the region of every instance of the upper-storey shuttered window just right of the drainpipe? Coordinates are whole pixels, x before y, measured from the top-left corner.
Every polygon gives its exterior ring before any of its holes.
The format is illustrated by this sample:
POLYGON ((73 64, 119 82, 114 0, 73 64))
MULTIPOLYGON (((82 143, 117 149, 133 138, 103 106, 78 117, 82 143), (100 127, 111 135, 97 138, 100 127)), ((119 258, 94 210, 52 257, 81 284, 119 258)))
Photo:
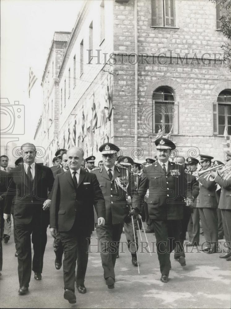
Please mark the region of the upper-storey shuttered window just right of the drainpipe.
POLYGON ((175 27, 175 0, 151 0, 151 26, 175 27))

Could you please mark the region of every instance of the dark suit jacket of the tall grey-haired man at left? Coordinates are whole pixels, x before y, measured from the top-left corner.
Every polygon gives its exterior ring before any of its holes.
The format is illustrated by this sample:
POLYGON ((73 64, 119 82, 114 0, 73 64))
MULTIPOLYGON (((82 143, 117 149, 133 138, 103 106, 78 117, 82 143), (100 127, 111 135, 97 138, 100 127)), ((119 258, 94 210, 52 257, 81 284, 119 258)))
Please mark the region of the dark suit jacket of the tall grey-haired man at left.
POLYGON ((50 198, 54 183, 50 167, 35 163, 33 189, 28 192, 27 175, 24 165, 19 165, 9 172, 4 213, 10 214, 14 199, 15 225, 29 224, 33 217, 49 224, 49 211, 43 210, 43 203, 50 198), (49 192, 49 194, 48 194, 49 192))

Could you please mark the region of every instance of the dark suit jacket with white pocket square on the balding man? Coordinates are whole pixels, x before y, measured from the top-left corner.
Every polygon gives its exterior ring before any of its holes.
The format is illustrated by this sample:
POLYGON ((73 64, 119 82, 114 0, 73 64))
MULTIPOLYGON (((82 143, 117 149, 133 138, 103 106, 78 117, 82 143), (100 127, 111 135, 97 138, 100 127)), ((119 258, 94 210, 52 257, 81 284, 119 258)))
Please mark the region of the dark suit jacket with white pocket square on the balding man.
POLYGON ((77 189, 70 170, 57 174, 50 206, 50 227, 67 232, 77 220, 81 230, 93 231, 93 205, 98 218, 105 218, 105 201, 94 174, 81 169, 77 189))

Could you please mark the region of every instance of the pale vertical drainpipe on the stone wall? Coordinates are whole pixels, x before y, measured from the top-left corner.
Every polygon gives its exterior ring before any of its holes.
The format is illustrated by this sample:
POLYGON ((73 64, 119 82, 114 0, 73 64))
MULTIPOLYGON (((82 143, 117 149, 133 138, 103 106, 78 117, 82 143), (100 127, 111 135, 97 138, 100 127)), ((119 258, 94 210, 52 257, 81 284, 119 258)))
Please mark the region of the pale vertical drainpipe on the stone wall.
POLYGON ((134 0, 134 39, 135 39, 135 136, 134 146, 137 148, 137 136, 138 136, 138 25, 137 25, 137 0, 134 0))

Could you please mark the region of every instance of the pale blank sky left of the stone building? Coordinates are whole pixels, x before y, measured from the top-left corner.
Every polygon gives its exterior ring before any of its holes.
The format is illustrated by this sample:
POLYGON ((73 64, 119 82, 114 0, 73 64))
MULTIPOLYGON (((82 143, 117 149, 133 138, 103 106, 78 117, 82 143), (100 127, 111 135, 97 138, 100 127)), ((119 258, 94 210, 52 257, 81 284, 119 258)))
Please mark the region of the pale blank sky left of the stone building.
MULTIPOLYGON (((15 142, 19 146, 24 142, 33 142, 35 129, 41 116, 43 103, 41 78, 54 32, 72 31, 82 1, 1 0, 0 4, 1 104, 6 102, 2 98, 8 98, 11 105, 14 105, 14 101, 24 105, 24 108, 21 106, 19 110, 20 121, 15 118, 12 134, 16 133, 16 135, 1 135, 1 145, 13 139, 19 139, 15 142), (29 99, 30 67, 38 79, 29 99), (23 116, 23 109, 25 116, 23 116), (25 133, 19 135, 23 132, 23 123, 25 133)), ((15 107, 13 108, 15 110, 15 107)), ((1 130, 3 124, 9 121, 8 116, 2 114, 2 110, 3 108, 1 108, 1 130)))

